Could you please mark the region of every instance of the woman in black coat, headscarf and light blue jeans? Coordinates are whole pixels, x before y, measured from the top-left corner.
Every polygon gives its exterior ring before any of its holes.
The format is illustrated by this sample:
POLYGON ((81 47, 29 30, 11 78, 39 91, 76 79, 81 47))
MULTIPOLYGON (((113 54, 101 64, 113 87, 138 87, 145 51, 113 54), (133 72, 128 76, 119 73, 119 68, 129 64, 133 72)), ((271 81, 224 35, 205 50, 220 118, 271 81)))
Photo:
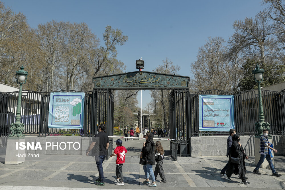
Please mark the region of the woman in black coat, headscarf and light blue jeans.
POLYGON ((143 183, 148 184, 147 186, 155 187, 156 186, 155 177, 152 170, 152 165, 155 165, 155 156, 154 156, 155 144, 153 142, 153 135, 150 132, 147 132, 145 139, 146 141, 143 143, 143 149, 141 151, 141 158, 140 158, 140 164, 143 165, 143 170, 146 179, 143 183))

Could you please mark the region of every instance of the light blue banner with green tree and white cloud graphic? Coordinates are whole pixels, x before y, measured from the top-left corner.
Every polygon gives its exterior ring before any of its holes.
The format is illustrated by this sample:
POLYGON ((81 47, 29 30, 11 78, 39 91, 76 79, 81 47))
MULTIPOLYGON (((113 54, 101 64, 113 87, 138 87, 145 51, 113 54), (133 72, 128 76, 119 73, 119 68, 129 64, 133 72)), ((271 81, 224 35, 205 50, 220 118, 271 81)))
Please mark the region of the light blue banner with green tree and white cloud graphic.
POLYGON ((50 93, 48 127, 83 128, 84 97, 83 92, 50 93))

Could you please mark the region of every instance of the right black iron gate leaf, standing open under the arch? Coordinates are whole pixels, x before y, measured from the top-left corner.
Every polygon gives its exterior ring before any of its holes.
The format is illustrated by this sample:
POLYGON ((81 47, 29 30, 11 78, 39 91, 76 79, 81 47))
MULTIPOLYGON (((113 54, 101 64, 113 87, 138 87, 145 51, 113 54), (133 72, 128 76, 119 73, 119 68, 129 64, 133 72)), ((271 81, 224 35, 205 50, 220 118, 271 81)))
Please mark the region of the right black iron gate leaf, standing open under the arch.
POLYGON ((190 99, 188 89, 173 89, 168 96, 171 156, 191 156, 190 99))

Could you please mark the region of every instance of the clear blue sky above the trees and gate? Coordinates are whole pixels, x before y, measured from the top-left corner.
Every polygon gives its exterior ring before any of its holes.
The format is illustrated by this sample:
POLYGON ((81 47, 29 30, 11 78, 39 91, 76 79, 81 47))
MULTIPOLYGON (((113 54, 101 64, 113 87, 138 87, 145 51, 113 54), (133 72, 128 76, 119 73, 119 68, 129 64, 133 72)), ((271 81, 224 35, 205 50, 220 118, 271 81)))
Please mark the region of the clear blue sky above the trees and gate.
MULTIPOLYGON (((102 34, 107 25, 122 30, 129 40, 117 47, 117 59, 136 71, 135 61, 142 57, 144 71, 152 71, 169 58, 181 70, 179 75, 193 77, 191 63, 196 61, 198 48, 208 37, 225 40, 233 34, 235 20, 254 17, 264 6, 261 0, 204 1, 31 1, 2 0, 14 12, 27 16, 36 28, 52 20, 87 23, 104 45, 102 34)), ((143 109, 151 100, 143 91, 143 109)), ((138 95, 140 106, 141 97, 138 95)))

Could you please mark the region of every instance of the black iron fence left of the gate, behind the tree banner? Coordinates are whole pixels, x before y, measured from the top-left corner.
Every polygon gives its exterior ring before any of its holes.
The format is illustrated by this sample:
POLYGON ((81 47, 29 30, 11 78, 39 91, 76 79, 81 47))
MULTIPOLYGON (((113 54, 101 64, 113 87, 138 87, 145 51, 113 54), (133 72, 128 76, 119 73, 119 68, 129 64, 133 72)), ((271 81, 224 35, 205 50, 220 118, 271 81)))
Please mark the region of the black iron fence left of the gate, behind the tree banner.
MULTIPOLYGON (((66 91, 57 91, 66 92, 66 91)), ((78 91, 68 91, 78 92, 78 91)), ((97 131, 94 120, 94 92, 85 92, 84 129, 48 128, 50 92, 23 91, 21 122, 25 124, 24 135, 28 136, 93 136, 97 131)), ((10 134, 10 124, 15 122, 19 92, 0 93, 0 136, 10 134)))

